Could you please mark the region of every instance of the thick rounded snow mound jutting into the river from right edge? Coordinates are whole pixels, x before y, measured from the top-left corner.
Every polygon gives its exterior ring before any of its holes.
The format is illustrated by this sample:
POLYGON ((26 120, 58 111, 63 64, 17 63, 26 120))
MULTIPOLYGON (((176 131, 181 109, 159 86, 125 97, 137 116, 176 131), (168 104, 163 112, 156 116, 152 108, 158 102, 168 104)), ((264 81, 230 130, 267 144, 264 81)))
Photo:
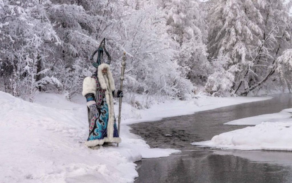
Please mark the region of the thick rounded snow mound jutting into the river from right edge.
POLYGON ((192 145, 226 150, 292 151, 292 122, 263 122, 214 136, 211 141, 192 145))

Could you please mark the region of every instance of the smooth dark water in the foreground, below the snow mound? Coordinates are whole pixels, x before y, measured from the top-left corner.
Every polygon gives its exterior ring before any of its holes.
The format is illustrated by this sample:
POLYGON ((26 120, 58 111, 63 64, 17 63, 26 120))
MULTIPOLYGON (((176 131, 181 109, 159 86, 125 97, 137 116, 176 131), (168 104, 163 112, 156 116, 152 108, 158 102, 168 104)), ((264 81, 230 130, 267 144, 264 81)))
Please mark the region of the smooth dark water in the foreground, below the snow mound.
POLYGON ((140 164, 135 183, 285 183, 292 180, 291 167, 206 151, 142 160, 140 164))

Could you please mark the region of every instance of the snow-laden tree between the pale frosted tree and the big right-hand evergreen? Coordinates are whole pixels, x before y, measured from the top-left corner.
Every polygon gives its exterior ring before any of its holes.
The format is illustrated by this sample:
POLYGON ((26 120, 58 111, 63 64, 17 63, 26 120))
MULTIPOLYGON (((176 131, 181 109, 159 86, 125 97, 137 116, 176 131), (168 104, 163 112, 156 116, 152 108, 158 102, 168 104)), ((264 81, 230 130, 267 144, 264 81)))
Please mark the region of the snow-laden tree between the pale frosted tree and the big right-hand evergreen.
POLYGON ((206 49, 206 13, 197 0, 166 0, 158 3, 167 14, 168 34, 178 43, 173 59, 183 67, 187 78, 202 84, 210 71, 206 49))

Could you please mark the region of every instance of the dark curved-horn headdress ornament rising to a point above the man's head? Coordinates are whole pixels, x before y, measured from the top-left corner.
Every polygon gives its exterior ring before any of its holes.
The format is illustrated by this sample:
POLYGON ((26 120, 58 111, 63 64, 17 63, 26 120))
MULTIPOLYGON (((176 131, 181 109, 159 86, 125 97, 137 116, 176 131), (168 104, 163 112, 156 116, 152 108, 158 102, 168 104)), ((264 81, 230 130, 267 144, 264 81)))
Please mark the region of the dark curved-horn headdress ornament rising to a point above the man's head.
POLYGON ((105 62, 105 64, 110 64, 112 61, 112 58, 110 57, 109 52, 107 52, 107 49, 105 48, 105 38, 103 38, 103 40, 99 44, 98 49, 96 49, 90 57, 90 63, 95 68, 98 68, 98 66, 104 62, 103 52, 105 52, 105 54, 107 55, 107 59, 108 59, 107 62, 105 62), (98 56, 97 56, 96 62, 94 62, 93 57, 96 53, 98 53, 98 56))

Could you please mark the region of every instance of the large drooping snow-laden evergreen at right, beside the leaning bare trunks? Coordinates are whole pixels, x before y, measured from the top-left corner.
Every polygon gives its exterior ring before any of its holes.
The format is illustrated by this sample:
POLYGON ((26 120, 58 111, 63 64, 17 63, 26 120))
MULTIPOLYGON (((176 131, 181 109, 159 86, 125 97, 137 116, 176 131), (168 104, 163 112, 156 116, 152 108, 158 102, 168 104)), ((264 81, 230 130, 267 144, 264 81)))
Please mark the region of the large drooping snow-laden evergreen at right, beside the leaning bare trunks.
POLYGON ((290 3, 219 0, 213 4, 208 52, 216 72, 209 76, 206 90, 219 95, 246 95, 269 81, 265 79, 269 67, 291 47, 290 3), (221 80, 216 87, 211 84, 214 78, 221 80))

